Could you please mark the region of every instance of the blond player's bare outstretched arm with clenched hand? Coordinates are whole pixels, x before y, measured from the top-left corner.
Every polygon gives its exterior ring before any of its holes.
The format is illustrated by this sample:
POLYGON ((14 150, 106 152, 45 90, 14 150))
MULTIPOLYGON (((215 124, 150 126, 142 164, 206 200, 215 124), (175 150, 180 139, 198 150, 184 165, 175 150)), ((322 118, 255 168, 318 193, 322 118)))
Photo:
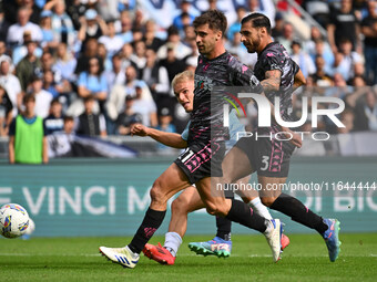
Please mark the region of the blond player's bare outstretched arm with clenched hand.
POLYGON ((137 136, 150 136, 156 142, 173 148, 186 148, 187 142, 182 139, 181 135, 177 133, 165 133, 159 129, 146 127, 142 124, 134 124, 131 127, 131 135, 137 136))

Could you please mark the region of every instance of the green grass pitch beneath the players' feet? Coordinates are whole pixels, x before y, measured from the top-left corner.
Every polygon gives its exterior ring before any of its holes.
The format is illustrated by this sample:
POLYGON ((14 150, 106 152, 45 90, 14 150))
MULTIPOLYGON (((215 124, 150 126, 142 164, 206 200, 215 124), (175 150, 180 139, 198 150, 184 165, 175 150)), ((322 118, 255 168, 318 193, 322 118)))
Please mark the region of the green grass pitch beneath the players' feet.
MULTIPOLYGON (((135 269, 123 269, 98 252, 99 246, 121 247, 130 238, 32 238, 0 240, 2 281, 377 281, 377 233, 343 234, 338 260, 328 260, 316 234, 292 234, 283 260, 273 263, 262 236, 233 234, 228 259, 200 257, 187 243, 210 239, 187 236, 175 265, 160 265, 141 255, 135 269)), ((163 242, 162 237, 151 243, 163 242)))

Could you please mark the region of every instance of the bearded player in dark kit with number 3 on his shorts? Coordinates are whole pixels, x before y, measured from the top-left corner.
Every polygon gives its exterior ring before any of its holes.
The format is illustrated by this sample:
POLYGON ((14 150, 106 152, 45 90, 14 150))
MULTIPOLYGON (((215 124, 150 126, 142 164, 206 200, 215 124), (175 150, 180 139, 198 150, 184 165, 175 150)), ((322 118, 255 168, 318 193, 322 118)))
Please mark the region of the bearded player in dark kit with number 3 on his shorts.
MULTIPOLYGON (((271 23, 267 17, 252 13, 242 20, 242 42, 249 53, 258 55, 254 72, 264 87, 266 96, 273 102, 279 97, 281 114, 284 121, 292 121, 292 93, 305 79, 298 71, 282 44, 273 42, 271 38, 271 23)), ((276 133, 278 126, 259 127, 259 135, 276 133)), ((289 158, 294 150, 291 143, 277 139, 244 137, 226 155, 224 178, 227 182, 257 171, 258 182, 263 188, 267 184, 284 184, 288 175, 289 158), (276 161, 276 159, 278 161, 276 161)), ((330 261, 335 261, 340 251, 338 239, 339 221, 323 219, 306 208, 299 200, 281 191, 268 192, 266 189, 259 194, 262 202, 271 209, 283 212, 308 228, 315 229, 325 239, 330 261)))

